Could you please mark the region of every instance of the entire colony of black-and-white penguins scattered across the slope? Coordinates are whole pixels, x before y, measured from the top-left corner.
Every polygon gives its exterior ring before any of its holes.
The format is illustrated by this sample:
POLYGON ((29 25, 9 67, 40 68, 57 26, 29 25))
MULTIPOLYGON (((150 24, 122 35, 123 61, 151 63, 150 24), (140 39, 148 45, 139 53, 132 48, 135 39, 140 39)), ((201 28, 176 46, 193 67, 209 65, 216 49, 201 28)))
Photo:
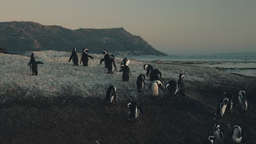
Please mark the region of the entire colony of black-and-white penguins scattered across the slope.
MULTIPOLYGON (((92 56, 88 55, 89 50, 84 48, 82 53, 82 58, 80 60, 83 62, 83 66, 87 67, 89 63, 89 58, 94 59, 92 56)), ((109 56, 108 52, 106 50, 102 51, 104 58, 101 59, 100 64, 104 62, 104 68, 108 69, 108 74, 113 74, 113 70, 117 70, 117 65, 115 64, 115 57, 114 55, 109 56)), ((28 65, 30 65, 30 68, 32 70, 32 75, 38 75, 38 69, 37 64, 44 64, 42 62, 37 62, 34 58, 35 54, 31 54, 31 59, 28 65)), ((76 52, 76 49, 74 48, 72 51, 71 56, 69 57, 69 62, 73 61, 73 65, 78 66, 78 55, 76 52)), ((129 81, 131 78, 131 71, 129 68, 130 59, 124 58, 123 61, 120 64, 120 72, 123 72, 123 81, 129 81)), ((162 74, 159 69, 154 69, 152 65, 145 64, 144 70, 146 70, 146 75, 140 74, 137 77, 137 92, 141 93, 143 89, 145 88, 145 80, 146 76, 149 81, 152 81, 149 86, 149 90, 153 97, 159 96, 159 88, 164 90, 164 86, 162 85, 162 82, 160 81, 162 74)), ((165 88, 168 92, 170 92, 170 95, 174 96, 177 93, 179 95, 185 95, 185 85, 184 85, 184 74, 179 74, 178 81, 170 80, 166 83, 165 88)), ((217 112, 216 116, 223 117, 225 111, 231 111, 232 109, 232 100, 234 98, 234 95, 231 95, 230 93, 224 92, 224 96, 222 99, 219 100, 219 103, 217 105, 217 112)), ((106 103, 113 104, 113 101, 117 101, 117 88, 113 85, 109 86, 106 93, 106 103)), ((248 111, 248 102, 246 97, 245 91, 240 91, 238 93, 238 102, 240 104, 241 110, 248 111)), ((129 121, 136 121, 136 118, 138 117, 139 112, 142 112, 142 107, 137 103, 137 101, 132 101, 127 103, 127 108, 130 110, 129 112, 129 121)), ((243 136, 243 130, 239 125, 234 125, 232 128, 232 141, 234 143, 241 143, 243 136)), ((209 136, 208 140, 213 144, 219 144, 224 142, 223 133, 220 131, 220 125, 215 124, 213 128, 213 136, 209 136)))

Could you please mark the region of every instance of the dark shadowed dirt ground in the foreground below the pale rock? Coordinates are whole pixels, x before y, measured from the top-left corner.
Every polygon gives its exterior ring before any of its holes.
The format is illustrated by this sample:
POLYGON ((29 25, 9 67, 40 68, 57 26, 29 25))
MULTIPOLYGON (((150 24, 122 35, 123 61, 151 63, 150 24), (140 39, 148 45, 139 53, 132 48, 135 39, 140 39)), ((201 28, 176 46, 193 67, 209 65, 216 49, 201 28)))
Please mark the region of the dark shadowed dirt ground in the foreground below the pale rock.
POLYGON ((245 130, 242 143, 255 143, 255 87, 246 89, 247 95, 251 95, 249 112, 241 112, 235 100, 232 112, 217 121, 213 120, 216 103, 212 101, 222 97, 225 88, 200 87, 188 87, 188 96, 170 97, 167 92, 158 99, 138 96, 143 114, 139 114, 137 122, 127 121, 128 101, 106 105, 104 98, 13 99, 1 106, 0 142, 207 143, 218 122, 226 143, 230 143, 229 127, 234 124, 245 130))

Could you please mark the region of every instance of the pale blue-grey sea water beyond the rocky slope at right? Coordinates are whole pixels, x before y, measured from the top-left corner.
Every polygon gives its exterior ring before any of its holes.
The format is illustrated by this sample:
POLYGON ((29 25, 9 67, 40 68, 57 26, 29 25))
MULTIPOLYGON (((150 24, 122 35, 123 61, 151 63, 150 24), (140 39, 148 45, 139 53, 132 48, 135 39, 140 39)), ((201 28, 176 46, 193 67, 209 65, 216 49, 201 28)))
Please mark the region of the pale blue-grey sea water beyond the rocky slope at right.
POLYGON ((165 57, 165 56, 133 56, 129 57, 133 59, 137 59, 140 61, 176 61, 176 62, 205 62, 202 65, 205 67, 220 67, 220 68, 229 68, 225 71, 226 73, 236 73, 242 74, 246 76, 253 76, 256 77, 256 70, 254 69, 246 69, 246 68, 256 68, 256 57, 245 57, 245 56, 238 56, 238 57, 222 57, 222 56, 209 56, 209 57, 184 57, 184 56, 175 56, 175 57, 165 57), (209 62, 209 63, 207 63, 209 62), (220 62, 216 64, 210 64, 210 62, 220 62), (235 68, 235 69, 230 69, 235 68), (245 69, 241 69, 245 68, 245 69))

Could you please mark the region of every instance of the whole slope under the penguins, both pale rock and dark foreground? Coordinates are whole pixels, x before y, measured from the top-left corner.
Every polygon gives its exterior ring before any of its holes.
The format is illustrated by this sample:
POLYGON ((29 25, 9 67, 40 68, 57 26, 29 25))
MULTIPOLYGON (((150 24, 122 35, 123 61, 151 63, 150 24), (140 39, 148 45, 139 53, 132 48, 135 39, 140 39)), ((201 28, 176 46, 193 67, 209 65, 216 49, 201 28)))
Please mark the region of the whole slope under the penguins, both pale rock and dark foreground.
MULTIPOLYGON (((243 143, 256 141, 256 79, 224 73, 197 65, 157 64, 131 60, 130 82, 122 82, 122 73, 107 74, 100 65, 102 55, 92 55, 89 67, 68 63, 67 52, 35 52, 38 76, 31 76, 27 66, 31 52, 18 55, 0 53, 0 141, 3 143, 206 143, 214 123, 220 123, 226 143, 230 125, 245 129, 243 143), (187 96, 170 97, 160 91, 160 97, 150 97, 146 89, 138 94, 136 80, 146 74, 143 65, 149 63, 162 73, 162 82, 177 80, 185 74, 187 96), (113 106, 104 104, 108 86, 118 91, 113 106), (245 89, 250 111, 238 110, 237 93, 245 89), (224 91, 235 93, 235 107, 223 119, 213 120, 216 104, 224 91), (127 122, 126 104, 137 100, 144 113, 137 123, 127 122)), ((81 53, 78 53, 81 57, 81 53)), ((116 58, 118 70, 122 59, 116 58)))

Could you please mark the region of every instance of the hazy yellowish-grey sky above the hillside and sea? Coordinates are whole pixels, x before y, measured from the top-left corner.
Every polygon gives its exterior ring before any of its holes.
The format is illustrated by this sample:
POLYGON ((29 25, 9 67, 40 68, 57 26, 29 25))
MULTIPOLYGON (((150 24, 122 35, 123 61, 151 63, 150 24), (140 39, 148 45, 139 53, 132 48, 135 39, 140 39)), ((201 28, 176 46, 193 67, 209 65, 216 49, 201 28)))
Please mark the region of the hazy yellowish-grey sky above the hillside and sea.
POLYGON ((124 27, 166 53, 256 51, 255 0, 0 0, 0 21, 124 27))

